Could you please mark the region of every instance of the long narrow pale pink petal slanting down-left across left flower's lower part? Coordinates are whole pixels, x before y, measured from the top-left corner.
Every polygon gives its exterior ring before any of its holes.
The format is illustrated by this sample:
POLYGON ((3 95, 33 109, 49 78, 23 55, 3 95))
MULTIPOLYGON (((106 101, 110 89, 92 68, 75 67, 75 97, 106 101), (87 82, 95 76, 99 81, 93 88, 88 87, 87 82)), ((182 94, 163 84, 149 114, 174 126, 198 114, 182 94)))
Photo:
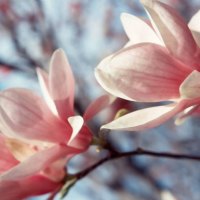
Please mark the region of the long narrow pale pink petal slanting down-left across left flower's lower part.
POLYGON ((77 149, 64 145, 54 145, 51 148, 39 151, 12 169, 1 174, 0 181, 19 180, 28 176, 32 176, 38 172, 41 172, 55 161, 77 153, 79 153, 77 149))

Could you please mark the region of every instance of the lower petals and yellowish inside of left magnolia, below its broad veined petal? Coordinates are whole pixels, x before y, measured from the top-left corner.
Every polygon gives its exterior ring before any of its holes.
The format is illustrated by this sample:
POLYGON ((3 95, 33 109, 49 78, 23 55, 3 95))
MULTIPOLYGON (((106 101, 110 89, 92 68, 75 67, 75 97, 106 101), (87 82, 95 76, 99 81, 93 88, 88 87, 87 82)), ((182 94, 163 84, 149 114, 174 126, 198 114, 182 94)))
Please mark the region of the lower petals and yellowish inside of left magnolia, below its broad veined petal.
POLYGON ((0 195, 4 200, 21 200, 56 191, 65 174, 66 155, 78 153, 64 145, 38 150, 41 145, 3 135, 0 135, 0 147, 0 195))

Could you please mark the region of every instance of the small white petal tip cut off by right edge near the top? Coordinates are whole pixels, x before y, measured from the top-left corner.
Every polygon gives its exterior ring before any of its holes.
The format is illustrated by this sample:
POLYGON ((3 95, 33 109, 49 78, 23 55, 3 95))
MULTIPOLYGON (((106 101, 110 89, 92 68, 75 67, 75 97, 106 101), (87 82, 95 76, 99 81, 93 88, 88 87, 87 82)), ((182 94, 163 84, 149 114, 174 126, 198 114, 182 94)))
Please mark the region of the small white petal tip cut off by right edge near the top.
POLYGON ((191 20, 188 23, 188 26, 192 32, 192 35, 200 47, 200 26, 199 26, 199 21, 200 21, 200 10, 191 18, 191 20))

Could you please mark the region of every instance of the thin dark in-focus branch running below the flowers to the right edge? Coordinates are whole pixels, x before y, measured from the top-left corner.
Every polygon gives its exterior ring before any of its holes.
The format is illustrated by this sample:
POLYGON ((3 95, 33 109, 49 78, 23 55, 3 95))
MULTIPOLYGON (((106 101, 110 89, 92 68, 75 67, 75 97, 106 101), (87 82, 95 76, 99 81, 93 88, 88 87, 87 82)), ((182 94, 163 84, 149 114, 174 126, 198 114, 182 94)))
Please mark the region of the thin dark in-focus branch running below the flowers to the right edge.
POLYGON ((151 156, 151 157, 159 157, 159 158, 167 158, 167 159, 179 159, 179 160, 187 159, 187 160, 200 161, 200 156, 196 156, 196 155, 176 154, 176 153, 170 153, 170 152, 154 152, 154 151, 138 148, 134 151, 128 151, 124 153, 116 152, 116 151, 114 153, 110 152, 110 154, 107 157, 101 159, 100 161, 88 167, 87 169, 77 174, 74 174, 73 176, 77 177, 77 180, 80 180, 107 161, 115 160, 118 158, 124 158, 124 157, 132 157, 132 156, 151 156))

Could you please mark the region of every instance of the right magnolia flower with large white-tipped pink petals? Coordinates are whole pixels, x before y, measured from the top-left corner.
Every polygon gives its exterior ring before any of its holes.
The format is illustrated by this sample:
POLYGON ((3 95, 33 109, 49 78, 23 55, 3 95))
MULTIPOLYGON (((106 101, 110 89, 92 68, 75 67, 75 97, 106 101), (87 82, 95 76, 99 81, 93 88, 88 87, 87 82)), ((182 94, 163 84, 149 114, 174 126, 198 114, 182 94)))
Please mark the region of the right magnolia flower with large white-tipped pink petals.
POLYGON ((173 103, 129 113, 103 128, 152 128, 178 113, 183 119, 200 103, 200 13, 194 15, 188 27, 170 6, 156 0, 141 2, 150 21, 122 14, 129 42, 105 58, 95 75, 101 86, 117 97, 173 103))

